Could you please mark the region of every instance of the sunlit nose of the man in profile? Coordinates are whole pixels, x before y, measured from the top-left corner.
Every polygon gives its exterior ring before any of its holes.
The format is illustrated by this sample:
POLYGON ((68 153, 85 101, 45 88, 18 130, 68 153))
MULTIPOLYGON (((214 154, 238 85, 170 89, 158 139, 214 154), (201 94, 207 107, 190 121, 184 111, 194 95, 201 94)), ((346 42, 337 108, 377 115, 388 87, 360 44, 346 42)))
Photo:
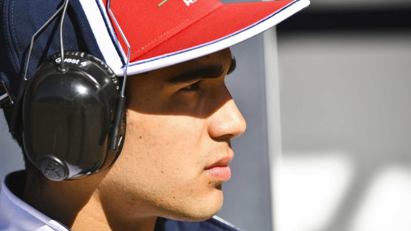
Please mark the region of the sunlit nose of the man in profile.
POLYGON ((246 123, 234 100, 230 99, 215 113, 208 124, 208 133, 217 140, 233 139, 244 133, 246 123))

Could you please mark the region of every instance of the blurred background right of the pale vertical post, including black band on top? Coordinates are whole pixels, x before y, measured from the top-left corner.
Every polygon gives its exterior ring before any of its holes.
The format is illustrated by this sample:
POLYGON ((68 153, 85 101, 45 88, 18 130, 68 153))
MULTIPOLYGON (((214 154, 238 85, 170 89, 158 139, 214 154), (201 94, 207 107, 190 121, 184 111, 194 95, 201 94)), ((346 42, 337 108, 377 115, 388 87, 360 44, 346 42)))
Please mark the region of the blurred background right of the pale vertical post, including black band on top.
POLYGON ((411 230, 411 1, 312 0, 277 35, 275 230, 411 230))

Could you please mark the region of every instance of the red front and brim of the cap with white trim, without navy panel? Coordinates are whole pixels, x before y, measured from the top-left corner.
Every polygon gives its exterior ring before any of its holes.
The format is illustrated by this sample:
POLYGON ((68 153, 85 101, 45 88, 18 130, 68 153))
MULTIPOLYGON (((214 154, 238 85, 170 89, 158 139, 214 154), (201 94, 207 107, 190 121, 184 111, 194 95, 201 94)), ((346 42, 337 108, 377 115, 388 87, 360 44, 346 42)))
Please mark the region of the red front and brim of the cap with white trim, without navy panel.
MULTIPOLYGON (((80 3, 106 63, 122 76, 127 46, 106 10, 107 0, 80 3)), ((131 46, 130 75, 225 49, 308 5, 309 0, 230 4, 219 0, 116 0, 110 8, 131 46)))

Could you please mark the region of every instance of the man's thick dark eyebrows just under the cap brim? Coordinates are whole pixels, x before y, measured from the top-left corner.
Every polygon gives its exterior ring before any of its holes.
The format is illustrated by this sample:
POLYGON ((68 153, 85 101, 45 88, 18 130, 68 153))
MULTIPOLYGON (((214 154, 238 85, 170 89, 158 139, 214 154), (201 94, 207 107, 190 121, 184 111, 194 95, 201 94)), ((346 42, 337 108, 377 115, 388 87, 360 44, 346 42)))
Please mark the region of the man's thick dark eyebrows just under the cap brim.
MULTIPOLYGON (((231 57, 231 65, 227 74, 231 74, 236 69, 236 58, 231 57)), ((192 69, 187 72, 172 76, 167 79, 167 82, 171 84, 189 83, 198 79, 217 79, 223 76, 226 69, 222 65, 218 66, 205 66, 198 69, 192 69)))

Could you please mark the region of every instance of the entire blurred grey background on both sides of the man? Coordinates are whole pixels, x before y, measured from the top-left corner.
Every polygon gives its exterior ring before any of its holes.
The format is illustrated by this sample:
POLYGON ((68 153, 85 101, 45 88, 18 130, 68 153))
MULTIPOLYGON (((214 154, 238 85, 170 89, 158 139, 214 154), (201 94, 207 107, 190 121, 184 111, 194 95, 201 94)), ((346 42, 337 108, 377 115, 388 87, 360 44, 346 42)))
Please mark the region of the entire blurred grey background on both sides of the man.
MULTIPOLYGON (((220 217, 247 231, 411 230, 410 18, 409 0, 312 0, 277 36, 232 47, 226 83, 247 131, 220 217)), ((23 157, 0 125, 4 176, 23 157)))

